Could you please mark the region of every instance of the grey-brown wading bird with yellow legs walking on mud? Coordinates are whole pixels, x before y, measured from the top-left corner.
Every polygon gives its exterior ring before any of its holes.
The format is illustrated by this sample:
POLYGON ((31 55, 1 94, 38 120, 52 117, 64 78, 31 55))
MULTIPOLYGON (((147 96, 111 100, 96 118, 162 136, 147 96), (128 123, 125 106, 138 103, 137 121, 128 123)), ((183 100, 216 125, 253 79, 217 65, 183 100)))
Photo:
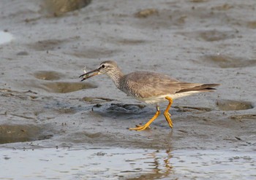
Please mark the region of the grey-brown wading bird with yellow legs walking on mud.
POLYGON ((129 96, 142 101, 146 104, 155 104, 157 111, 145 125, 137 125, 129 130, 146 130, 151 122, 157 119, 160 114, 159 103, 168 101, 164 111, 165 120, 170 128, 173 128, 173 122, 169 113, 173 99, 182 98, 195 93, 205 93, 216 90, 214 87, 219 84, 203 84, 181 82, 165 74, 159 74, 150 71, 135 71, 129 74, 123 74, 117 63, 113 60, 105 60, 100 63, 97 69, 80 75, 81 81, 89 79, 99 74, 106 74, 110 77, 116 87, 129 96))

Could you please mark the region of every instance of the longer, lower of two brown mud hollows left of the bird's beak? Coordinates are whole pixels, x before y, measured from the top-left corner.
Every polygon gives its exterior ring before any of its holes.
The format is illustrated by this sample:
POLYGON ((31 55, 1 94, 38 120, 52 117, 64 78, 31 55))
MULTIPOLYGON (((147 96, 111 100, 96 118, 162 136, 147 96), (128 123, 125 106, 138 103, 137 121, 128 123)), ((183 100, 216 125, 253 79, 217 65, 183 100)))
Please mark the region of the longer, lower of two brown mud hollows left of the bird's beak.
POLYGON ((71 93, 83 89, 97 88, 96 85, 83 82, 48 82, 42 85, 42 88, 50 93, 71 93))

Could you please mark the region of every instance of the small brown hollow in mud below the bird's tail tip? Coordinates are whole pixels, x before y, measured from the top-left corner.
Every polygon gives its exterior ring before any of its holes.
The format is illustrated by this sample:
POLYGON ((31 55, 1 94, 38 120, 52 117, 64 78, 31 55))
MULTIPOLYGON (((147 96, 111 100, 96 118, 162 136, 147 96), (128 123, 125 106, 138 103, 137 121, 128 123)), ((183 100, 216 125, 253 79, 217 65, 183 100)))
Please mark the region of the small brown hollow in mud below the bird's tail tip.
POLYGON ((218 100, 217 106, 221 111, 239 111, 253 108, 251 102, 235 100, 218 100))

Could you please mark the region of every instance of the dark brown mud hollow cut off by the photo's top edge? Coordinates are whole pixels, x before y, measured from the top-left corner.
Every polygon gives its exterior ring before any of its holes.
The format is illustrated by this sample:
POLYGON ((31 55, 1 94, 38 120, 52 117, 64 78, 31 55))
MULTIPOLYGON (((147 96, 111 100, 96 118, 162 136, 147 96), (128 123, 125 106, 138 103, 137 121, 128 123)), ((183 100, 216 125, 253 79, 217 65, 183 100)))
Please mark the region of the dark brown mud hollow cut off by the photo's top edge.
POLYGON ((58 16, 65 12, 71 12, 86 7, 90 3, 91 0, 45 0, 42 9, 47 9, 48 12, 58 16))

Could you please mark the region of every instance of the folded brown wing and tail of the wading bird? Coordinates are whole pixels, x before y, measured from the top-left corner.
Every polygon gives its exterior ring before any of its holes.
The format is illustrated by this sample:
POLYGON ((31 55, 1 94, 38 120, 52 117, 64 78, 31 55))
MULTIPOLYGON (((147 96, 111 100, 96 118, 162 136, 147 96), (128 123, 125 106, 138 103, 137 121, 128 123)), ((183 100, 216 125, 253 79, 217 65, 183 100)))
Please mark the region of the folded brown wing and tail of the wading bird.
POLYGON ((137 71, 121 79, 120 88, 128 95, 150 98, 158 95, 184 93, 188 91, 210 91, 217 84, 179 82, 165 74, 137 71))

